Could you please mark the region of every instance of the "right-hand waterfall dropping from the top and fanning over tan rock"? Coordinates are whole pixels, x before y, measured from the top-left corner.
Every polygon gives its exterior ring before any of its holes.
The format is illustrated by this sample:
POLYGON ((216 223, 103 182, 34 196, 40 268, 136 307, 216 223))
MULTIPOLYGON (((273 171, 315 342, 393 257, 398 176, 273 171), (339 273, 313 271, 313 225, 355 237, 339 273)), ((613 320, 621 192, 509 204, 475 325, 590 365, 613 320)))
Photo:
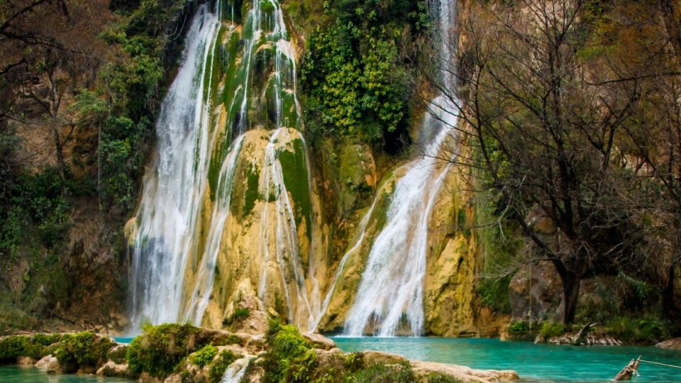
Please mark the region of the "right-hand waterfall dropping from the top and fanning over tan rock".
MULTIPOLYGON (((437 37, 441 42, 445 84, 454 84, 452 47, 455 1, 431 4, 438 13, 437 37)), ((423 276, 426 273, 428 221, 451 165, 436 157, 455 126, 455 108, 443 94, 431 101, 431 113, 423 119, 422 133, 431 133, 423 145, 425 155, 409 162, 397 180, 387 210, 387 221, 372 244, 353 306, 345 320, 344 334, 394 336, 407 324, 411 335, 423 333, 423 276)), ((426 136, 426 134, 421 135, 426 136)), ((378 197, 377 197, 378 198, 378 197)))

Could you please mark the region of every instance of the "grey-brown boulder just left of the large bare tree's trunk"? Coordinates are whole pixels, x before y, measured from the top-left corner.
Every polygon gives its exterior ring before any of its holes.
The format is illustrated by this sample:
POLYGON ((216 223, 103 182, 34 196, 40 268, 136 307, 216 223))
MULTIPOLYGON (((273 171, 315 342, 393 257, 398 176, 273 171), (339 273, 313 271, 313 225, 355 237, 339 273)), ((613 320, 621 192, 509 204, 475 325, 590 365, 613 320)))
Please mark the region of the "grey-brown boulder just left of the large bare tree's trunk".
POLYGON ((558 273, 550 262, 521 267, 509 284, 511 319, 532 322, 553 319, 560 305, 561 288, 558 273))

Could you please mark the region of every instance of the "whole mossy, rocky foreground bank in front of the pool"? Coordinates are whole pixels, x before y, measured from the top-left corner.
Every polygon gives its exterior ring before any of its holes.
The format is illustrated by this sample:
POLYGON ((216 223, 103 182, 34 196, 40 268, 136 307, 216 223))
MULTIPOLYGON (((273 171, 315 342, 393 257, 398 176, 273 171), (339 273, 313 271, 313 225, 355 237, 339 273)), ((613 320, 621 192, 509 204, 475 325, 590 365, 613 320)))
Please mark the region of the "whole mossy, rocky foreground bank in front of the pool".
POLYGON ((422 362, 384 351, 347 353, 329 338, 301 334, 294 326, 277 323, 259 335, 190 325, 145 326, 128 345, 89 332, 12 335, 0 338, 0 363, 35 365, 50 374, 96 374, 166 383, 519 379, 512 370, 422 362))

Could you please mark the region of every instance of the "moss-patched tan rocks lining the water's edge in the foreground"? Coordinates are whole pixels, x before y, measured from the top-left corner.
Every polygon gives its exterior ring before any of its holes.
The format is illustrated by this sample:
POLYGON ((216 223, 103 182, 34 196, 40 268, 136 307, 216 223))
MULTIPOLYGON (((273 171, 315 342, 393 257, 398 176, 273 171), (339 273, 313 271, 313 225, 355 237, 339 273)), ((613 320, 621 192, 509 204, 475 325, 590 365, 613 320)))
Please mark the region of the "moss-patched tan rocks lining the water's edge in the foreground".
MULTIPOLYGON (((299 367, 305 368, 306 372, 301 375, 303 377, 301 382, 306 381, 305 378, 313 382, 323 375, 328 377, 325 382, 352 382, 358 373, 366 374, 381 369, 382 373, 387 369, 389 373, 410 374, 410 381, 414 379, 414 382, 419 383, 441 382, 441 379, 458 379, 460 382, 474 383, 519 379, 518 374, 511 370, 476 370, 460 365, 409 360, 401 355, 372 350, 345 353, 336 347, 333 340, 318 333, 299 333, 293 326, 281 326, 279 331, 282 331, 283 340, 278 340, 278 333, 272 335, 271 330, 268 332, 270 338, 265 339, 264 334, 230 333, 189 325, 162 325, 156 326, 150 333, 139 335, 143 338, 133 345, 116 343, 109 338, 104 342, 104 337, 92 333, 62 334, 57 337, 59 340, 43 348, 43 353, 50 353, 37 362, 35 353, 21 355, 28 351, 19 351, 16 362, 35 365, 48 374, 77 372, 96 374, 99 377, 136 379, 138 382, 167 383, 218 383, 226 371, 238 373, 246 377, 248 382, 262 382, 263 379, 272 379, 273 376, 278 377, 275 381, 283 382, 287 381, 287 375, 276 372, 281 366, 272 365, 272 361, 284 358, 289 360, 287 363, 302 363, 299 367), (73 350, 69 348, 68 342, 74 338, 92 338, 92 342, 87 349, 73 350), (169 338, 177 344, 159 343, 169 338), (277 341, 289 342, 287 344, 295 344, 298 348, 304 347, 304 350, 298 355, 278 355, 277 353, 281 351, 276 350, 277 341), (187 351, 177 354, 179 345, 187 351), (102 349, 105 346, 106 350, 102 349), (126 355, 131 355, 131 351, 137 359, 133 359, 134 362, 131 360, 129 364, 126 355), (173 353, 175 356, 172 356, 173 353), (104 356, 92 358, 92 355, 104 356), (148 371, 144 365, 140 365, 140 360, 145 358, 157 365, 161 359, 168 357, 175 357, 177 360, 168 370, 148 371), (89 362, 85 362, 88 358, 89 362), (329 376, 329 371, 334 373, 329 376)), ((34 342, 36 338, 50 335, 16 336, 22 337, 24 343, 31 345, 37 344, 34 342)), ((0 343, 0 348, 2 347, 3 344, 0 343)), ((25 350, 35 349, 26 347, 25 350)))

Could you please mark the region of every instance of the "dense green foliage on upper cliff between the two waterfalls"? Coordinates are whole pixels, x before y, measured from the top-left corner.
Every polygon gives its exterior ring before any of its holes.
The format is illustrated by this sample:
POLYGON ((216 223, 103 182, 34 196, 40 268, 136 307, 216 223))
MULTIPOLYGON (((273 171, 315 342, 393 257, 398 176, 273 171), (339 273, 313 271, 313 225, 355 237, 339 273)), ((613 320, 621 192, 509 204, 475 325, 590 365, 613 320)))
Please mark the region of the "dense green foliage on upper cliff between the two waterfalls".
POLYGON ((395 145, 413 94, 409 40, 428 28, 426 1, 326 1, 323 9, 330 25, 311 34, 301 70, 310 133, 395 145))

